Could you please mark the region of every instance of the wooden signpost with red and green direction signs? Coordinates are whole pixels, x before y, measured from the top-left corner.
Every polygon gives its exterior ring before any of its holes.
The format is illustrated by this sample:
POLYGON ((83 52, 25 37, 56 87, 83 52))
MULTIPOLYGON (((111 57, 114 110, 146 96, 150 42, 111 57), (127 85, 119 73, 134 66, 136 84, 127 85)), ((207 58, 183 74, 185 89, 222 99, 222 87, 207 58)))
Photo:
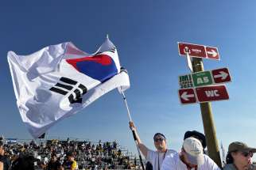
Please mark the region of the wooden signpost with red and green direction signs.
POLYGON ((208 155, 219 167, 219 145, 216 138, 211 103, 209 101, 229 99, 225 85, 215 85, 231 81, 227 68, 204 71, 202 59, 219 60, 217 47, 208 47, 194 43, 178 43, 179 55, 185 55, 192 74, 179 76, 179 98, 181 104, 200 102, 204 124, 204 134, 208 145, 208 155), (192 57, 192 62, 190 57, 192 57))

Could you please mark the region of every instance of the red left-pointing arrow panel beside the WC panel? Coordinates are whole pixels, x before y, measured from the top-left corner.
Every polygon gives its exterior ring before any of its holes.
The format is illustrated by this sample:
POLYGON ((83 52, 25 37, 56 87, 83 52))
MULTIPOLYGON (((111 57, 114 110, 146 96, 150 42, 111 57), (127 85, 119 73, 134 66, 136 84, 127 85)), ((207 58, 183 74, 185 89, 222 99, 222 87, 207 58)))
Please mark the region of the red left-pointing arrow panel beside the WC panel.
POLYGON ((194 89, 179 89, 179 96, 181 104, 196 103, 196 94, 194 89))

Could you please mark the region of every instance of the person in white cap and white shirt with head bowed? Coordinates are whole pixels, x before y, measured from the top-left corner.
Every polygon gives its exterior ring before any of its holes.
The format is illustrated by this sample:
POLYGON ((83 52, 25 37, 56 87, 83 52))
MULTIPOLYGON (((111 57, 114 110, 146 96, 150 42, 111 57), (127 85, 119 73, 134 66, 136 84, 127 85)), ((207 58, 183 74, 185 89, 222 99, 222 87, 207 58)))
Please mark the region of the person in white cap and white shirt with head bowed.
POLYGON ((184 139, 180 153, 169 155, 161 170, 220 170, 210 157, 204 154, 203 145, 197 138, 184 139))

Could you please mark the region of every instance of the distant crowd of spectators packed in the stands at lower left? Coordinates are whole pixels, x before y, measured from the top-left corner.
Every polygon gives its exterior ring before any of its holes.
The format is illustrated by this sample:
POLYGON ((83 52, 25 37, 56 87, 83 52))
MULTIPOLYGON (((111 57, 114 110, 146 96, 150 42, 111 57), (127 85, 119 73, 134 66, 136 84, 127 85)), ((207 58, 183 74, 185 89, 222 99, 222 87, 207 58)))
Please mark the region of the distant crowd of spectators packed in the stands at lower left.
POLYGON ((48 140, 37 144, 0 141, 0 170, 139 169, 117 142, 48 140))

